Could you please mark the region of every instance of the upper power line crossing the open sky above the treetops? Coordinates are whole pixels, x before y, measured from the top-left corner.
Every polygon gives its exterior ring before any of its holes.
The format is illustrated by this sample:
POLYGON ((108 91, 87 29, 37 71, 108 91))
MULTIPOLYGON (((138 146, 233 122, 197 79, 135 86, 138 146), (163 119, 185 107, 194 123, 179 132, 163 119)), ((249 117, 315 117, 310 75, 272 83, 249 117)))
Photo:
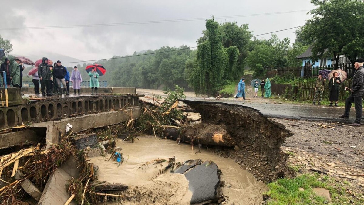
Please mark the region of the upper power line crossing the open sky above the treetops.
MULTIPOLYGON (((234 16, 216 16, 214 18, 215 19, 239 18, 239 17, 249 17, 249 16, 265 16, 265 15, 277 15, 277 14, 284 14, 284 13, 296 13, 296 12, 305 12, 305 11, 309 11, 309 10, 283 11, 283 12, 273 12, 273 13, 256 13, 256 14, 234 15, 234 16)), ((211 18, 211 17, 191 18, 191 19, 173 19, 173 20, 155 20, 155 21, 144 21, 144 22, 124 22, 124 23, 82 24, 82 25, 66 25, 66 26, 39 26, 39 27, 0 28, 0 31, 5 31, 5 30, 52 29, 52 28, 83 28, 83 27, 100 27, 100 26, 124 26, 124 25, 137 25, 137 24, 187 22, 187 21, 206 20, 206 19, 209 19, 209 18, 211 18)))

